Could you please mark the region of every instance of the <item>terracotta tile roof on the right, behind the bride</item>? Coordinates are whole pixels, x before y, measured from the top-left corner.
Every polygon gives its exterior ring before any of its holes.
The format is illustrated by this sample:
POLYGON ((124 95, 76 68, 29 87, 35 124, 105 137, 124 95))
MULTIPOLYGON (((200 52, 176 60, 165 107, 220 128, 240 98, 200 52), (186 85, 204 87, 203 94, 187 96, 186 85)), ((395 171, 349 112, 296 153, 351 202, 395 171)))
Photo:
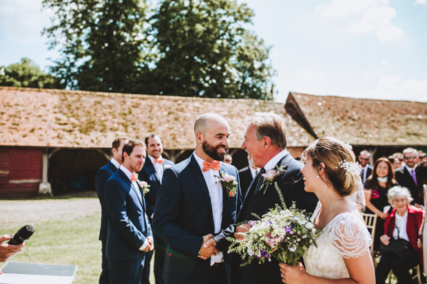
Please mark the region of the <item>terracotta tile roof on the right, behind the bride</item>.
POLYGON ((290 92, 286 107, 317 138, 353 145, 427 145, 427 103, 290 92))

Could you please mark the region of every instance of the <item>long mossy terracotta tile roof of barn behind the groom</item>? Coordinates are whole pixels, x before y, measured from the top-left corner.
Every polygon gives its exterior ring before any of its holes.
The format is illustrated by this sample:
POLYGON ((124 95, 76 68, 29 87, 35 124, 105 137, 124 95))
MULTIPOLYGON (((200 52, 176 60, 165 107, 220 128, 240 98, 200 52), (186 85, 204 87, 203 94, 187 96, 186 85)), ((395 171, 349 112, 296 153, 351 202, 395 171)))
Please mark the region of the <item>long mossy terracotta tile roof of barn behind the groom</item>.
POLYGON ((194 121, 213 112, 230 124, 230 148, 240 148, 245 120, 268 111, 287 121, 289 146, 313 141, 284 104, 264 100, 0 87, 0 107, 1 146, 110 148, 118 135, 143 140, 157 133, 165 149, 194 149, 194 121))

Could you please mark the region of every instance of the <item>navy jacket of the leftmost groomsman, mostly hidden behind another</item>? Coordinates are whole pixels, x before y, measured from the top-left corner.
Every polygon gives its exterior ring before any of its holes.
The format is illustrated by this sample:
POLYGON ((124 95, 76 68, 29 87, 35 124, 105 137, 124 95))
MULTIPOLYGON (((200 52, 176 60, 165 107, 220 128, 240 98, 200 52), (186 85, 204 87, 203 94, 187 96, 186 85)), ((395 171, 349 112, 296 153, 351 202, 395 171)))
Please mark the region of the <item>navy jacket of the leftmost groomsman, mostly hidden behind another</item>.
POLYGON ((112 162, 108 162, 105 166, 98 170, 95 178, 96 195, 98 195, 99 203, 101 203, 101 230, 99 231, 99 239, 107 241, 108 233, 108 212, 105 207, 104 188, 107 180, 116 173, 117 168, 112 162))

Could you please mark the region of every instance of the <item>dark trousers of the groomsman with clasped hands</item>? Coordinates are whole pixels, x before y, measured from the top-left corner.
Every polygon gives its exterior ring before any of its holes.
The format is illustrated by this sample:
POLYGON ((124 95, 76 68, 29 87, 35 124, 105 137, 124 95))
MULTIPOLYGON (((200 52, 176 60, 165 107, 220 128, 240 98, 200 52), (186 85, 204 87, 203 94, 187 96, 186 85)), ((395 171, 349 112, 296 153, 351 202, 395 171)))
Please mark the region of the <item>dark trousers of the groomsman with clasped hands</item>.
POLYGON ((143 278, 144 259, 144 256, 130 261, 108 259, 110 283, 140 284, 143 278))

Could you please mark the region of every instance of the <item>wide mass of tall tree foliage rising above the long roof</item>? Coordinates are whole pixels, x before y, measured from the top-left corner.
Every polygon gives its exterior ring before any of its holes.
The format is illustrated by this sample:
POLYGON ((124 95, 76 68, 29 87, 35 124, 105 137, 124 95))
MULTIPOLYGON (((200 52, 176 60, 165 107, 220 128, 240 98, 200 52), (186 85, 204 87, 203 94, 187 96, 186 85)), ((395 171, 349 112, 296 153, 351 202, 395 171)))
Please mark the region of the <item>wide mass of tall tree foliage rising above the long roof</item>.
POLYGON ((273 99, 269 48, 235 0, 43 0, 43 30, 62 58, 51 72, 70 89, 273 99), (151 3, 151 2, 150 2, 151 3))

